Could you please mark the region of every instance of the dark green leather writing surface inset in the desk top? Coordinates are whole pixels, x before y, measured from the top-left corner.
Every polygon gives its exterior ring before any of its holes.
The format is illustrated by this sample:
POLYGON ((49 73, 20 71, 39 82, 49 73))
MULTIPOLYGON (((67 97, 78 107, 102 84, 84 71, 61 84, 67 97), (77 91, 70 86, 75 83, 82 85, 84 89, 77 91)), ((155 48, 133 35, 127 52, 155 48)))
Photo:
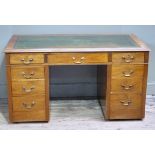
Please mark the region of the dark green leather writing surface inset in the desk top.
POLYGON ((129 35, 18 36, 15 49, 138 47, 129 35))

